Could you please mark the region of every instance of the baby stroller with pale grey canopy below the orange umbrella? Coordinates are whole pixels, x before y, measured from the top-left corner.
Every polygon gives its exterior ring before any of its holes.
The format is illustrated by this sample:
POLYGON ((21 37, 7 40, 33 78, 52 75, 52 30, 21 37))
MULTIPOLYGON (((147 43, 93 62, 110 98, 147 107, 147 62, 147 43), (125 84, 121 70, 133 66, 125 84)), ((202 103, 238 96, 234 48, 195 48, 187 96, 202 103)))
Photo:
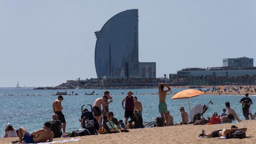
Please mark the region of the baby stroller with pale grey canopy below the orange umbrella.
POLYGON ((191 121, 190 123, 194 124, 196 122, 196 120, 200 120, 201 116, 203 116, 203 114, 207 111, 208 105, 210 103, 212 103, 212 100, 210 100, 207 105, 205 105, 205 104, 198 104, 194 108, 192 108, 190 113, 189 113, 189 115, 188 115, 188 118, 191 121))

